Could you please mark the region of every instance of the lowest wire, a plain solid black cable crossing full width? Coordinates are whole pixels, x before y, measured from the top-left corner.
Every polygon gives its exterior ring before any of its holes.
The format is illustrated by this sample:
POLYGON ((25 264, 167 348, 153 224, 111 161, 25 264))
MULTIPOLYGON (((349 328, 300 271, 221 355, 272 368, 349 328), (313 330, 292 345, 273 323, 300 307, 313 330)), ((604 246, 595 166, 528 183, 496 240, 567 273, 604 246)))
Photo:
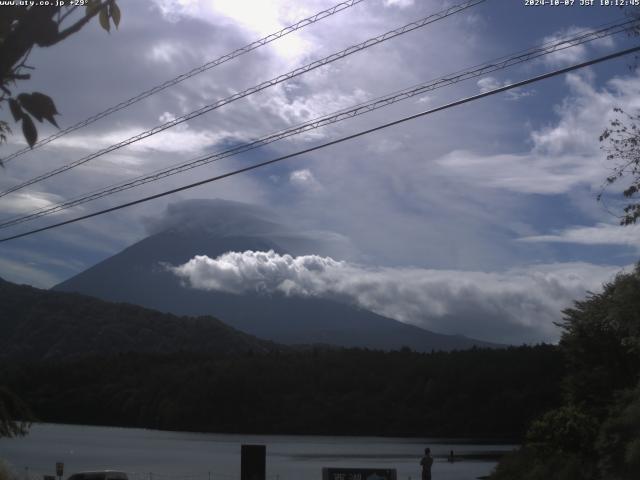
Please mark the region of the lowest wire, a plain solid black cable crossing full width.
POLYGON ((162 193, 157 193, 155 195, 150 195, 148 197, 140 198, 140 199, 134 200, 132 202, 123 203, 123 204, 117 205, 115 207, 110 207, 110 208, 106 208, 104 210, 99 210, 99 211, 94 212, 94 213, 90 213, 90 214, 87 214, 87 215, 82 215, 80 217, 72 218, 70 220, 65 220, 63 222, 59 222, 59 223, 55 223, 55 224, 52 224, 52 225, 48 225, 46 227, 41 227, 41 228, 37 228, 37 229, 34 229, 34 230, 29 230, 27 232, 20 233, 20 234, 17 234, 17 235, 12 235, 12 236, 9 236, 9 237, 0 238, 0 243, 7 242, 9 240, 15 240, 17 238, 26 237, 28 235, 33 235, 35 233, 44 232, 46 230, 51 230, 53 228, 61 227, 63 225, 68 225, 70 223, 79 222, 81 220, 86 220, 88 218, 96 217, 96 216, 99 216, 99 215, 104 215, 106 213, 114 212, 116 210, 121 210, 123 208, 131 207, 133 205, 138 205, 140 203, 145 203, 145 202, 148 202, 148 201, 151 201, 151 200, 155 200, 157 198, 165 197, 167 195, 172 195, 174 193, 182 192, 184 190, 189 190, 191 188, 195 188, 195 187, 198 187, 200 185, 205 185, 207 183, 211 183, 211 182, 215 182, 215 181, 218 181, 218 180, 222 180, 224 178, 228 178, 228 177, 232 177, 232 176, 235 176, 235 175, 238 175, 238 174, 241 174, 241 173, 249 172, 251 170, 256 170, 258 168, 265 167, 267 165, 271 165, 271 164, 274 164, 274 163, 277 163, 277 162, 281 162, 281 161, 287 160, 289 158, 298 157, 298 156, 306 154, 306 153, 314 152, 316 150, 321 150, 323 148, 326 148, 326 147, 329 147, 329 146, 332 146, 332 145, 337 145, 339 143, 346 142, 348 140, 352 140, 354 138, 358 138, 358 137, 361 137, 361 136, 364 136, 364 135, 368 135, 368 134, 373 133, 373 132, 377 132, 379 130, 383 130, 385 128, 389 128, 389 127, 392 127, 394 125, 399 125, 399 124, 407 122, 409 120, 414 120, 416 118, 420 118, 420 117, 423 117, 423 116, 426 116, 426 115, 430 115, 432 113, 436 113, 436 112, 439 112, 439 111, 442 111, 442 110, 447 110, 449 108, 457 107, 459 105, 463 105, 465 103, 473 102, 473 101, 479 100, 481 98, 485 98, 485 97, 488 97, 488 96, 491 96, 491 95, 496 95, 498 93, 506 92, 508 90, 513 90, 514 88, 523 87, 523 86, 529 85, 531 83, 539 82, 539 81, 545 80, 547 78, 551 78, 551 77, 555 77, 555 76, 558 76, 558 75, 562 75, 564 73, 572 72, 572 71, 578 70, 580 68, 585 68, 585 67, 588 67, 588 66, 591 66, 591 65, 595 65, 597 63, 605 62, 607 60, 612 60, 614 58, 622 57, 624 55, 628 55, 630 53, 635 53, 635 52, 638 52, 638 51, 640 51, 640 47, 628 48, 626 50, 621 50, 621 51, 618 51, 616 53, 612 53, 610 55, 605 55, 603 57, 599 57, 599 58, 596 58, 596 59, 593 59, 593 60, 589 60, 587 62, 579 63, 579 64, 576 64, 576 65, 572 65, 570 67, 561 68, 559 70, 555 70, 553 72, 545 73, 543 75, 538 75, 536 77, 529 78, 527 80, 522 80, 520 82, 512 83, 510 85, 505 85, 504 87, 496 88, 496 89, 490 90, 488 92, 479 93, 479 94, 473 95, 471 97, 466 97, 466 98, 463 98, 461 100, 456 100, 455 102, 451 102, 451 103, 448 103, 448 104, 445 104, 445 105, 441 105, 439 107, 432 108, 430 110, 425 110, 423 112, 416 113, 414 115, 409 115, 409 116, 403 117, 403 118, 401 118, 399 120, 394 120, 393 122, 389 122, 389 123, 385 123, 385 124, 382 124, 382 125, 378 125, 377 127, 369 128, 367 130, 362 130, 360 132, 354 133, 352 135, 347 135, 346 137, 342 137, 342 138, 339 138, 337 140, 332 140, 330 142, 326 142, 326 143, 323 143, 323 144, 320 144, 320 145, 316 145, 315 147, 310 147, 310 148, 306 148, 304 150, 299 150, 297 152, 290 153, 288 155, 283 155, 281 157, 277 157, 277 158, 274 158, 274 159, 271 159, 271 160, 266 160, 264 162, 256 163, 256 164, 250 165, 248 167, 244 167, 244 168, 240 168, 240 169, 237 169, 237 170, 233 170, 231 172, 227 172, 227 173, 224 173, 224 174, 221 174, 221 175, 216 175, 214 177, 210 177, 210 178, 207 178, 205 180, 200 180, 198 182, 190 183, 190 184, 184 185, 182 187, 173 188, 171 190, 167 190, 167 191, 164 191, 162 193))

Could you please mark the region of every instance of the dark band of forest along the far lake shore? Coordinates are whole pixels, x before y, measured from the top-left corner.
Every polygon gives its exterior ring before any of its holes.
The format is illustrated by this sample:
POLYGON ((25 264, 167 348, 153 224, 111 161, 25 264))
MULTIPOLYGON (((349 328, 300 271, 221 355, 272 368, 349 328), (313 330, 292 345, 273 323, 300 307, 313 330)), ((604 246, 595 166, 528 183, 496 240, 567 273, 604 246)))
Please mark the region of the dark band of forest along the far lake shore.
POLYGON ((300 434, 518 437, 560 401, 556 347, 121 354, 4 363, 48 422, 300 434))

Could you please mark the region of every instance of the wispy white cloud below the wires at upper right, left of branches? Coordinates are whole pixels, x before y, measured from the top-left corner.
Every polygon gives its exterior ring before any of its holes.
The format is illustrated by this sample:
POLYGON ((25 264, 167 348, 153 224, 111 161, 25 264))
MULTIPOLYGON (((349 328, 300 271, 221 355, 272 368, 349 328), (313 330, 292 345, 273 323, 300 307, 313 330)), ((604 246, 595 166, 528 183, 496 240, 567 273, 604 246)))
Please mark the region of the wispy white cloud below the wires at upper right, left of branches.
MULTIPOLYGON (((533 129, 531 147, 518 153, 481 155, 455 150, 437 163, 456 178, 512 192, 555 195, 580 186, 598 190, 609 174, 598 135, 609 125, 613 108, 639 103, 640 76, 619 78, 597 89, 590 74, 569 74, 571 95, 556 107, 558 120, 533 129)), ((480 88, 500 83, 487 77, 480 88)))

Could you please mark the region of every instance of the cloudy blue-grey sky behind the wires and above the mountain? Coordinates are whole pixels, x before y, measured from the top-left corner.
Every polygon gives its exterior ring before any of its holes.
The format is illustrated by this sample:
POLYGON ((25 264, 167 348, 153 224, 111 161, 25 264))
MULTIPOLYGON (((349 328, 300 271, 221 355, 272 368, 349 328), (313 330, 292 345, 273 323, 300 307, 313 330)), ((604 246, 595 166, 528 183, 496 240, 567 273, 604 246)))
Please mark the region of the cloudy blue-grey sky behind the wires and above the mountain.
MULTIPOLYGON (((16 92, 50 95, 61 127, 333 6, 333 0, 120 0, 110 33, 92 22, 35 49, 16 92)), ((365 0, 8 162, 3 190, 455 2, 365 0)), ((616 7, 488 0, 0 198, 0 218, 128 178, 622 18, 616 7)), ((0 7, 1 8, 1 7, 0 7)), ((434 90, 391 107, 2 231, 15 234, 295 152, 459 98, 629 47, 619 34, 434 90)), ((348 297, 441 333, 556 341, 562 309, 638 260, 621 186, 598 140, 613 108, 640 106, 633 57, 412 120, 153 202, 0 244, 0 277, 49 288, 148 235, 191 199, 268 207, 326 248, 313 256, 230 252, 175 266, 183 288, 348 297), (613 212, 613 213, 612 213, 613 212), (339 239, 339 241, 336 241, 339 239), (257 263, 256 263, 257 262, 257 263), (256 270, 256 265, 258 267, 256 270), (256 273, 256 271, 258 273, 256 273), (275 272, 275 273, 274 273, 275 272), (258 275, 258 277, 256 277, 258 275), (274 276, 275 275, 275 276, 274 276), (275 279, 275 280, 274 280, 275 279), (253 283, 252 283, 253 282, 253 283), (226 285, 226 286, 225 286, 226 285), (231 285, 231 286, 229 286, 231 285)), ((8 111, 0 118, 8 120, 8 111)), ((40 137, 55 132, 38 125, 40 137)), ((19 128, 14 130, 19 131, 19 128)), ((24 146, 9 137, 4 154, 24 146)))

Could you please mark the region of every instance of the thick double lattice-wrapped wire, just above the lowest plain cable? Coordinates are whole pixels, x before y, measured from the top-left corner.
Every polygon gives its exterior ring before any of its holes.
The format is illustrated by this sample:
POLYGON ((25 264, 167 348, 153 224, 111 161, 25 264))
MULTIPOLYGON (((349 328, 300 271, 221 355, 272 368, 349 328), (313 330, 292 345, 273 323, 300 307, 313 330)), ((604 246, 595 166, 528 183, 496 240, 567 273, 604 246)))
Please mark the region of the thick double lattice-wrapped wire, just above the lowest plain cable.
POLYGON ((426 92, 435 90, 437 88, 449 86, 464 80, 468 80, 470 78, 477 78, 481 75, 486 75, 488 73, 495 72, 497 70, 501 70, 513 65, 517 65, 527 61, 532 61, 544 55, 549 55, 561 50, 565 50, 567 48, 581 45, 586 42, 590 42, 590 41, 601 39, 616 33, 627 31, 631 28, 635 28, 638 25, 640 25, 640 22, 638 22, 637 20, 625 20, 625 21, 620 21, 620 23, 617 23, 617 24, 616 23, 612 24, 612 22, 610 22, 606 24, 606 26, 599 27, 597 30, 585 30, 583 32, 580 32, 578 35, 574 37, 565 38, 561 41, 556 41, 556 42, 548 42, 539 47, 534 47, 528 50, 517 52, 511 56, 505 56, 496 60, 491 60, 484 64, 471 67, 470 69, 467 69, 467 70, 462 70, 456 73, 448 74, 444 77, 440 77, 437 80, 432 80, 427 83, 415 85, 400 91, 393 92, 383 97, 378 97, 368 102, 360 103, 358 105, 349 107, 347 109, 339 110, 329 115, 315 118, 301 125, 297 125, 295 127, 292 127, 286 130, 281 130, 279 132, 270 134, 260 139, 251 141, 249 143, 244 143, 244 144, 235 146, 233 148, 224 150, 222 152, 218 152, 214 155, 208 154, 202 157, 198 157, 197 159, 183 162, 179 165, 167 167, 149 174, 135 177, 125 182, 120 182, 108 187, 104 187, 100 190, 96 190, 96 191, 84 194, 82 196, 73 198, 63 203, 59 203, 57 205, 42 207, 26 215, 1 221, 0 229, 9 228, 9 227, 18 225, 20 223, 35 220, 43 216, 52 215, 54 213, 67 210, 74 206, 82 205, 84 203, 88 203, 90 201, 97 200, 105 196, 113 195, 115 193, 129 190, 131 188, 135 188, 150 182, 155 182, 165 177, 176 175, 178 173, 191 170, 193 168, 197 168, 203 165, 207 165, 209 163, 216 162, 218 160, 222 160, 223 158, 235 156, 240 153, 247 152, 249 150, 260 148, 264 145, 270 144, 272 142, 275 142, 290 136, 299 135, 299 134, 326 126, 326 125, 330 125, 342 120, 346 120, 358 115, 362 115, 364 113, 369 113, 379 108, 387 107, 396 102, 406 100, 408 98, 412 98, 417 95, 424 94, 426 92))

